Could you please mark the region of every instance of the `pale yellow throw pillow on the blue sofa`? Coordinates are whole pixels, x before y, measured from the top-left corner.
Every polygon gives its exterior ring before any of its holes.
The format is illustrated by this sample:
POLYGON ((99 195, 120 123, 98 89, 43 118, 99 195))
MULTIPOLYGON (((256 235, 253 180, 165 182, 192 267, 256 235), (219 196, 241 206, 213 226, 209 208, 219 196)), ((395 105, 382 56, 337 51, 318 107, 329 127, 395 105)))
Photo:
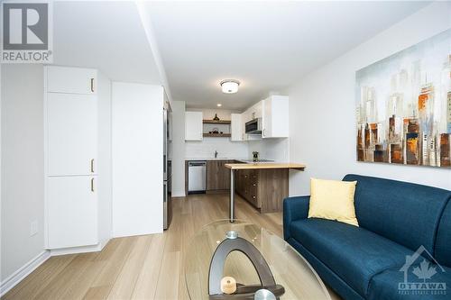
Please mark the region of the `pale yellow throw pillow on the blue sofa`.
POLYGON ((311 178, 308 218, 336 220, 359 226, 354 207, 356 184, 357 181, 311 178))

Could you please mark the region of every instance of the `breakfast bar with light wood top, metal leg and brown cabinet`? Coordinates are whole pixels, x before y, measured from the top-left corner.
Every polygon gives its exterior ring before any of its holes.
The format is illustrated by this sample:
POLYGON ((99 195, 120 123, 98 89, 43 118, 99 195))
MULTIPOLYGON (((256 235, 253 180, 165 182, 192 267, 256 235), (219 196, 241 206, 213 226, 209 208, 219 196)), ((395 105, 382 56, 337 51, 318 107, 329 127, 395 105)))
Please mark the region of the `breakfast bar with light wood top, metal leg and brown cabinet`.
POLYGON ((281 201, 288 196, 289 169, 303 171, 305 165, 298 163, 231 163, 230 169, 229 219, 235 219, 235 187, 260 213, 281 211, 281 201), (235 171, 241 172, 235 177, 235 171), (250 173, 251 172, 251 173, 250 173), (243 187, 243 188, 241 188, 243 187), (264 193, 259 191, 264 190, 264 193), (261 195, 261 196, 259 196, 261 195))

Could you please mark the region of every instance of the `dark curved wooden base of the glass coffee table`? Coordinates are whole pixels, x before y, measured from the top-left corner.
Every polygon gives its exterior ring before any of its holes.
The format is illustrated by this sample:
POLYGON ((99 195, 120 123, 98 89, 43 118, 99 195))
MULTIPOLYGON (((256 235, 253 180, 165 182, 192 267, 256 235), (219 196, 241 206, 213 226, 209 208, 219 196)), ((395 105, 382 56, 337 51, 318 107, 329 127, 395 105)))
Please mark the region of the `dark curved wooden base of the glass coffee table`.
POLYGON ((216 248, 210 262, 208 272, 209 299, 279 299, 285 293, 285 288, 276 284, 268 263, 262 253, 247 241, 238 236, 237 232, 226 232, 226 240, 216 248), (260 284, 242 285, 236 283, 233 277, 223 277, 226 258, 232 251, 240 251, 251 260, 260 278, 260 284), (262 291, 262 289, 264 289, 262 291))

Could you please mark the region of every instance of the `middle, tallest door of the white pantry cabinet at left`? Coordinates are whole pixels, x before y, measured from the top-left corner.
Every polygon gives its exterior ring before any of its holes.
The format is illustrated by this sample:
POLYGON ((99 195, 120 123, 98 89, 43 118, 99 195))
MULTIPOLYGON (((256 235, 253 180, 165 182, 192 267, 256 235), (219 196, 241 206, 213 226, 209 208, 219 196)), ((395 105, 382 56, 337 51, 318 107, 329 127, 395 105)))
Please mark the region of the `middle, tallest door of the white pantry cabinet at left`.
POLYGON ((97 173, 96 95, 48 93, 48 176, 97 173))

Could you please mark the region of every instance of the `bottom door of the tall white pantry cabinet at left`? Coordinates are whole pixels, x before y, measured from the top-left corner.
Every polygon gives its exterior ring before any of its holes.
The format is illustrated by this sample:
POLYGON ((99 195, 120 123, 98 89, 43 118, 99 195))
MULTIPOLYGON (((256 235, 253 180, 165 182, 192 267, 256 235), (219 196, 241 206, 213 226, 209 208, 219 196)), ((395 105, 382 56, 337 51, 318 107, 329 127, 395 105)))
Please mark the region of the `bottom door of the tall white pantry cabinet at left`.
POLYGON ((49 249, 96 245, 97 177, 47 178, 49 249))

